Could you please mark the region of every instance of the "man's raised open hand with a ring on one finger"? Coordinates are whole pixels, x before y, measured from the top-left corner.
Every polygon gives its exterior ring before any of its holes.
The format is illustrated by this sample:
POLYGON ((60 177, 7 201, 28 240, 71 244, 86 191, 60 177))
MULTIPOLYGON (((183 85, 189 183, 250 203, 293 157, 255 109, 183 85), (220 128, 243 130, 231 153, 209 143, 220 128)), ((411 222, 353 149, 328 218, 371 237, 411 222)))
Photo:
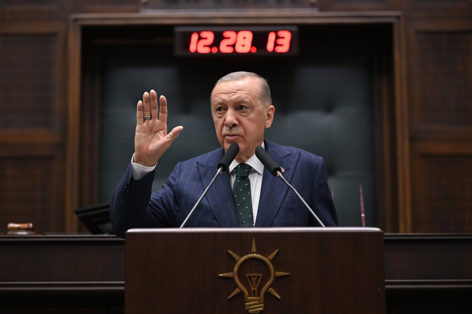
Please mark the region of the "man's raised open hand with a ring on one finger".
POLYGON ((183 126, 177 126, 167 133, 167 100, 159 98, 159 119, 157 94, 143 94, 143 101, 136 106, 135 156, 133 162, 152 167, 177 138, 183 126), (149 118, 150 117, 150 118, 149 118))

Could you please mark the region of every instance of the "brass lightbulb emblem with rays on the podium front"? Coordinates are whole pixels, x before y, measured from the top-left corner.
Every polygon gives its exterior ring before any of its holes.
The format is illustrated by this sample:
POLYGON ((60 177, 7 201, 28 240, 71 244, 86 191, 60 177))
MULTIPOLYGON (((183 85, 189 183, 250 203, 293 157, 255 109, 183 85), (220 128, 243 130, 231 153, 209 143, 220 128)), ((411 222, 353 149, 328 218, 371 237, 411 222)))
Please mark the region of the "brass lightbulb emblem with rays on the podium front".
POLYGON ((251 253, 244 255, 243 257, 239 257, 235 253, 231 252, 228 250, 228 253, 233 256, 233 258, 236 260, 236 265, 233 270, 233 272, 228 272, 225 274, 219 274, 220 277, 230 277, 235 280, 237 288, 231 293, 231 295, 228 297, 228 299, 236 296, 239 292, 244 293, 244 301, 246 302, 245 304, 245 310, 248 311, 251 314, 256 314, 264 310, 264 294, 265 292, 269 292, 271 295, 274 297, 277 297, 280 299, 280 296, 275 292, 273 288, 270 287, 272 282, 274 281, 275 277, 279 276, 287 276, 290 275, 288 272, 282 272, 282 271, 274 271, 274 266, 272 266, 272 259, 275 257, 277 254, 278 249, 275 250, 272 254, 269 256, 265 257, 262 256, 261 254, 256 253, 256 242, 253 238, 253 246, 251 249, 251 253), (267 265, 270 271, 269 279, 267 280, 267 283, 261 288, 261 291, 258 292, 258 288, 260 287, 261 279, 263 278, 262 274, 258 273, 250 273, 250 274, 245 274, 245 277, 247 279, 247 282, 249 284, 249 291, 244 287, 244 285, 241 283, 241 281, 238 278, 238 270, 241 264, 245 261, 248 260, 259 260, 267 265))

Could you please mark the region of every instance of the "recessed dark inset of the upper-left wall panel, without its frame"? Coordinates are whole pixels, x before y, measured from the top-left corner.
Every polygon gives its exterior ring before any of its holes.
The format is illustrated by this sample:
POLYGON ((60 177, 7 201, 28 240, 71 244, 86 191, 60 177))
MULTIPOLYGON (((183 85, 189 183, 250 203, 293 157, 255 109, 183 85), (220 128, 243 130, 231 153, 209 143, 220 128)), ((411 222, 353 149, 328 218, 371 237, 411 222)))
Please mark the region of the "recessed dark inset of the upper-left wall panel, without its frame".
POLYGON ((55 124, 55 43, 54 34, 0 35, 1 129, 51 129, 55 124))

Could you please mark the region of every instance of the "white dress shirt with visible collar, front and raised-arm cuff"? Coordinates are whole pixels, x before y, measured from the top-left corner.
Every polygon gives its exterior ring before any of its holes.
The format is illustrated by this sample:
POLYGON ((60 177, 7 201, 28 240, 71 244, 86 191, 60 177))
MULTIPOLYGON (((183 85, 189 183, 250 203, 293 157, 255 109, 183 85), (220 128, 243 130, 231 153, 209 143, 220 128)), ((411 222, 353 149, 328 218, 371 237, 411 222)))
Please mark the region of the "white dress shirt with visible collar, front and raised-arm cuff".
MULTIPOLYGON (((262 142, 262 148, 265 149, 264 142, 262 142)), ((135 155, 133 154, 133 157, 135 155)), ((141 179, 146 174, 150 173, 154 168, 156 168, 157 164, 153 167, 146 167, 140 164, 136 164, 133 162, 133 157, 131 157, 131 174, 135 180, 141 179)), ((261 186, 262 186, 262 173, 264 172, 264 165, 262 165, 261 161, 256 157, 254 154, 253 156, 249 157, 248 160, 244 164, 247 164, 252 167, 251 171, 249 172, 249 180, 251 181, 251 200, 253 202, 253 217, 254 217, 254 225, 256 224, 257 218, 257 209, 259 208, 259 199, 261 197, 261 186)), ((231 165, 228 167, 229 172, 229 183, 231 184, 231 191, 233 190, 233 184, 236 179, 236 166, 239 163, 236 159, 233 160, 231 165)))

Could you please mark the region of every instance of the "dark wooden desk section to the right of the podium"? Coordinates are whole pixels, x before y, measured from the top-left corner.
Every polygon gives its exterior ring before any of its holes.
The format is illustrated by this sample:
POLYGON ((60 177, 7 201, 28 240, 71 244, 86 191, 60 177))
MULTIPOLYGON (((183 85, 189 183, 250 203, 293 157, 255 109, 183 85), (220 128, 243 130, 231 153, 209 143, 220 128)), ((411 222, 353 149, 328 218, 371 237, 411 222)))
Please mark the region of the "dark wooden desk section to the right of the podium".
POLYGON ((391 314, 472 313, 471 234, 385 234, 391 314))

